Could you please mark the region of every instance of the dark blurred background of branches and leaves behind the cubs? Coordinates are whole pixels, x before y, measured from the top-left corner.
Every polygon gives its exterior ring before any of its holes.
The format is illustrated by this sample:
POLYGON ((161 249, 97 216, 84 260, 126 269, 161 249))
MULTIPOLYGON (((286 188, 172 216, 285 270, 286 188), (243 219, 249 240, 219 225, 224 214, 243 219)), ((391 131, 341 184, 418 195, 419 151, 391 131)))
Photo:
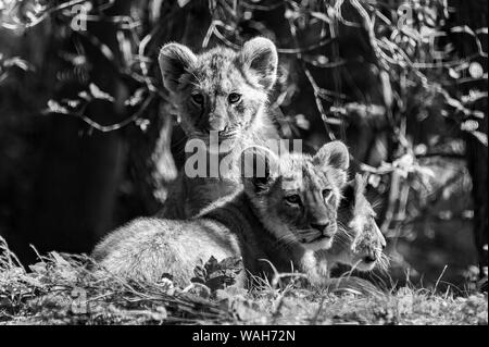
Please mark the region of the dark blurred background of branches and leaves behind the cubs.
POLYGON ((0 0, 0 235, 29 263, 158 211, 185 144, 159 49, 262 35, 281 136, 342 139, 368 176, 391 258, 369 276, 480 287, 487 18, 485 0, 0 0))

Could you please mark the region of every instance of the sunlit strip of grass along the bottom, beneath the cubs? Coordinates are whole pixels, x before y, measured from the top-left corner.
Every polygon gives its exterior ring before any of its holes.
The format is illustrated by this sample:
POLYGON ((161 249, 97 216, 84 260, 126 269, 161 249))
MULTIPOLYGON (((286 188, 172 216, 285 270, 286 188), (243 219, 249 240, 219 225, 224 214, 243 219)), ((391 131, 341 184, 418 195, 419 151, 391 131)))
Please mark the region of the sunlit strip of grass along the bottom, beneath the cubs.
POLYGON ((0 324, 487 324, 487 294, 403 287, 375 296, 278 285, 175 288, 115 277, 86 256, 51 252, 24 269, 0 238, 0 324))

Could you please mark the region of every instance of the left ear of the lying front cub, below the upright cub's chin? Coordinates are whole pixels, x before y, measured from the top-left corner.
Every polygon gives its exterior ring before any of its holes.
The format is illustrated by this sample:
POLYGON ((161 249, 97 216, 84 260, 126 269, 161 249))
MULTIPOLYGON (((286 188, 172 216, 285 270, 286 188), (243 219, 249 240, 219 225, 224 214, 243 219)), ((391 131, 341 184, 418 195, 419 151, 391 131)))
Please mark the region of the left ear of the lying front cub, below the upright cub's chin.
POLYGON ((278 175, 278 159, 267 150, 249 148, 241 153, 241 181, 244 191, 262 194, 273 185, 278 175))

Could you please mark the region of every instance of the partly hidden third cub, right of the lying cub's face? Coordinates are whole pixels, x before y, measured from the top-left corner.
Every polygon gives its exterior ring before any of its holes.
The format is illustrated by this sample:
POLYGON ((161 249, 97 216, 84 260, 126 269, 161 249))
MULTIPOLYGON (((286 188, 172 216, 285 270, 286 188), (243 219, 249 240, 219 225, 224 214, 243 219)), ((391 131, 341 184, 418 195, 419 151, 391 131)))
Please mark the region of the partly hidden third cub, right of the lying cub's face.
POLYGON ((344 188, 344 199, 338 210, 342 225, 327 256, 333 262, 352 265, 360 271, 371 271, 376 265, 387 267, 387 258, 383 253, 386 239, 365 198, 365 181, 358 174, 344 188))

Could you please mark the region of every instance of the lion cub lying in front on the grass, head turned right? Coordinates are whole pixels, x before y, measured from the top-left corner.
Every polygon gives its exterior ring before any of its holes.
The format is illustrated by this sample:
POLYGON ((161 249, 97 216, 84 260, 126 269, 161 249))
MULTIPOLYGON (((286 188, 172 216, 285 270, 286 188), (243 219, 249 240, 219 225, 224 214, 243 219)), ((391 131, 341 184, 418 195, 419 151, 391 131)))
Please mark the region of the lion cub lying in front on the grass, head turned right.
POLYGON ((135 220, 97 245, 93 258, 121 276, 159 281, 170 273, 180 286, 190 282, 196 264, 211 256, 218 261, 242 257, 246 270, 255 275, 271 272, 261 259, 280 272, 293 265, 318 283, 321 274, 312 260, 315 251, 331 246, 337 231, 349 166, 347 147, 334 141, 314 157, 288 153, 279 161, 254 150, 251 159, 264 170, 250 175, 246 154, 242 191, 188 221, 135 220))

